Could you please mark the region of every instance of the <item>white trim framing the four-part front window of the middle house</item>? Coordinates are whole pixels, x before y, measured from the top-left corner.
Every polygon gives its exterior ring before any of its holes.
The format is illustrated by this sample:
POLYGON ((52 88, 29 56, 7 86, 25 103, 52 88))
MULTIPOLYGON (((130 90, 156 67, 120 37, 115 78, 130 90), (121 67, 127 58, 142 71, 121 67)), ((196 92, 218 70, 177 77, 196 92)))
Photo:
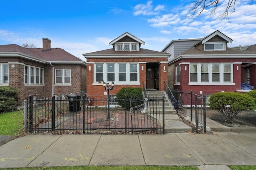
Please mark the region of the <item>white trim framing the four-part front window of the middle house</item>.
POLYGON ((102 82, 96 82, 96 64, 103 64, 103 81, 105 81, 106 83, 110 83, 107 81, 107 64, 114 64, 115 66, 115 85, 140 85, 140 64, 139 63, 125 63, 125 62, 120 62, 120 63, 94 63, 94 73, 93 73, 93 77, 94 77, 94 83, 92 85, 102 85, 102 82), (125 82, 120 82, 118 80, 118 64, 126 64, 126 81, 125 82), (130 64, 137 64, 137 81, 130 81, 130 64))

